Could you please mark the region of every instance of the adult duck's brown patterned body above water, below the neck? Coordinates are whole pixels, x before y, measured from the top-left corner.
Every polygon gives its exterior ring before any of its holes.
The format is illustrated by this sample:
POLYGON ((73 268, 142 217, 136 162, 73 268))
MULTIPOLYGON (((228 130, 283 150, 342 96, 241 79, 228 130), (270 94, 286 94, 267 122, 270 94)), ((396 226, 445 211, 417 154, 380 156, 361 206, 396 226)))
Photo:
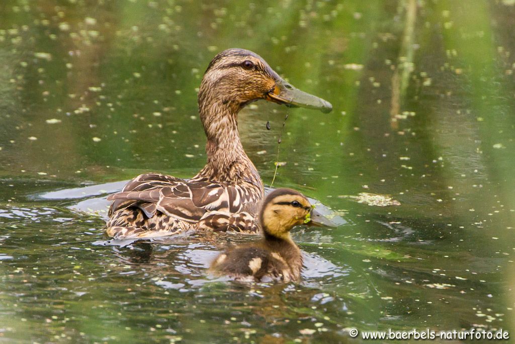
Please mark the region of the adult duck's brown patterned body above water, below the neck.
POLYGON ((142 238, 156 236, 149 231, 157 230, 168 235, 187 229, 255 232, 259 225, 253 214, 260 194, 251 190, 247 185, 216 183, 205 178, 185 181, 158 173, 142 174, 121 192, 108 197, 114 201, 109 209, 108 227, 131 228, 116 230, 114 235, 111 230, 108 234, 129 238, 137 232, 137 237, 142 238))

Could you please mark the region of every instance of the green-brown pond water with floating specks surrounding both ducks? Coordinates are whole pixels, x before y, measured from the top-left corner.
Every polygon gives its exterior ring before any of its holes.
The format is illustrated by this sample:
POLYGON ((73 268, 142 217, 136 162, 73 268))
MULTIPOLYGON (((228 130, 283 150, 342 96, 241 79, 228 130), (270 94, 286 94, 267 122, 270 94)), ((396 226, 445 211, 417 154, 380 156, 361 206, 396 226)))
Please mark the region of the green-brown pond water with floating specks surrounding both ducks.
POLYGON ((514 15, 511 0, 3 0, 0 341, 514 329, 514 15), (279 155, 285 107, 256 102, 238 119, 265 184, 286 162, 274 187, 339 219, 295 230, 299 284, 208 275, 217 251, 252 236, 104 234, 122 181, 204 165, 197 88, 229 47, 333 104, 291 109, 279 155))

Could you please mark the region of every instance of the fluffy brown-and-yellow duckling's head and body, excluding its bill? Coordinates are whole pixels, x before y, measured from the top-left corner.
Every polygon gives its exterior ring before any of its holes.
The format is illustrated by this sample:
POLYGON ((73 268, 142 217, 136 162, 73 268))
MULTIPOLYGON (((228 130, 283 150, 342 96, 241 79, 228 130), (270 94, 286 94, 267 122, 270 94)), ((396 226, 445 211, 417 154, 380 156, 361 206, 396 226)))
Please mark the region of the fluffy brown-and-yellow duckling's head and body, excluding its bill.
POLYGON ((260 241, 239 245, 221 253, 211 271, 236 281, 299 281, 302 254, 291 239, 293 226, 310 223, 313 207, 306 197, 292 189, 276 189, 263 201, 259 219, 260 241))

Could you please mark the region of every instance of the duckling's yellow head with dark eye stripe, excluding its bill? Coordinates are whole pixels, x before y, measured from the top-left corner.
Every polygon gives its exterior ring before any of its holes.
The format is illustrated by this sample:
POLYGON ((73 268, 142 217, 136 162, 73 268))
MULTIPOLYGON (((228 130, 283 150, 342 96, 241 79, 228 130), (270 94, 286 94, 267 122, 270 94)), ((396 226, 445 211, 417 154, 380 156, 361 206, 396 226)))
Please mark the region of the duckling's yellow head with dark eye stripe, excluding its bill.
POLYGON ((313 207, 306 197, 292 189, 276 189, 263 201, 260 221, 265 237, 289 238, 291 227, 311 221, 313 207))

